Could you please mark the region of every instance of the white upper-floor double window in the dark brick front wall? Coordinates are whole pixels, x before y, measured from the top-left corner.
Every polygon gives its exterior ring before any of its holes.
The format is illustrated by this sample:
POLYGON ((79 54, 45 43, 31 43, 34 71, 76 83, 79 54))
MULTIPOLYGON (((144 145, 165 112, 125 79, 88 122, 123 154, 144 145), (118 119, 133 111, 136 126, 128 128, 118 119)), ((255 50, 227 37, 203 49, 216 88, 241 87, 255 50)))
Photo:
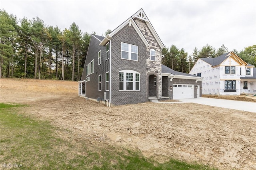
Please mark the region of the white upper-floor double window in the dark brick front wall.
POLYGON ((138 61, 138 46, 121 43, 121 58, 138 61))

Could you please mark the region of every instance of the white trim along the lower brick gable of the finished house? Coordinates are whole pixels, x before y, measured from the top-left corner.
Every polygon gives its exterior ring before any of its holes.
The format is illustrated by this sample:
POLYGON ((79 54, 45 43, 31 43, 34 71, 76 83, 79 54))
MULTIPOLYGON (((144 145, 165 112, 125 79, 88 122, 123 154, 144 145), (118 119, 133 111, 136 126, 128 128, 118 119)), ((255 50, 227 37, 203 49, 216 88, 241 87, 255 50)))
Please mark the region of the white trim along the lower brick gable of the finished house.
POLYGON ((146 38, 144 37, 144 35, 142 34, 142 32, 140 31, 140 29, 138 28, 137 24, 134 22, 134 20, 132 18, 128 18, 128 20, 126 20, 125 22, 123 22, 123 24, 121 24, 120 26, 118 26, 118 28, 116 28, 114 31, 112 31, 110 34, 108 34, 103 40, 102 42, 100 42, 100 45, 105 45, 110 38, 112 38, 112 36, 114 36, 117 32, 119 32, 122 28, 124 28, 124 26, 126 26, 127 24, 129 24, 129 26, 133 26, 134 29, 136 30, 136 32, 138 33, 138 35, 140 36, 141 40, 144 42, 144 44, 148 47, 149 43, 146 40, 146 38))

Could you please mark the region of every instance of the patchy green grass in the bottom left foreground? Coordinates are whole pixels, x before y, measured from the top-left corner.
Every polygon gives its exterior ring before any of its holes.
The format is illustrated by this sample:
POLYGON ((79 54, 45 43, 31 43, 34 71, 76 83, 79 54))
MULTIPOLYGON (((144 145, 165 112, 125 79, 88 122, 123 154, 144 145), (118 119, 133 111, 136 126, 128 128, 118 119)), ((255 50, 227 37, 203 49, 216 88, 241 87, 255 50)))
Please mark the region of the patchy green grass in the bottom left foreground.
POLYGON ((2 164, 22 164, 19 169, 126 169, 126 170, 213 170, 200 164, 187 164, 171 159, 159 163, 138 151, 107 144, 92 144, 88 140, 64 139, 60 130, 49 121, 39 121, 19 114, 24 105, 0 103, 2 164), (21 107, 21 108, 18 108, 21 107))

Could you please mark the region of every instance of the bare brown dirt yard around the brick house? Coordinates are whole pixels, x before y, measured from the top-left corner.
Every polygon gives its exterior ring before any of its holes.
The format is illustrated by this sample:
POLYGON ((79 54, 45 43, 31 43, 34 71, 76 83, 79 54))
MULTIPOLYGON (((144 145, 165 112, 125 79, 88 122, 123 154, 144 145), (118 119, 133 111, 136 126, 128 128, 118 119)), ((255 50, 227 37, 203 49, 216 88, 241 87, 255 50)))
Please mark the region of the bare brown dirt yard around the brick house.
POLYGON ((160 162, 256 169, 255 113, 192 103, 106 107, 78 97, 77 88, 71 81, 0 79, 0 99, 30 105, 22 113, 67 129, 63 138, 138 149, 160 162))

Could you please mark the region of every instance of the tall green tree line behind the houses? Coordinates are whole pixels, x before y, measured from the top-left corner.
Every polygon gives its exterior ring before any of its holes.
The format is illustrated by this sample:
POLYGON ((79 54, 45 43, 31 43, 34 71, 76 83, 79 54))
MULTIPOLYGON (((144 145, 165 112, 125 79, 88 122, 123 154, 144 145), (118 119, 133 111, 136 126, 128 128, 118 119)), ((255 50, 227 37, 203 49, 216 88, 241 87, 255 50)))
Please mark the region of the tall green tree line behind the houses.
MULTIPOLYGON (((91 34, 82 33, 74 22, 60 30, 46 26, 38 17, 18 20, 5 10, 0 10, 0 21, 0 77, 80 80, 91 34)), ((106 30, 105 35, 110 32, 106 30)), ((216 51, 207 44, 188 55, 184 48, 172 45, 162 50, 162 63, 188 73, 199 57, 216 57, 227 51, 224 45, 216 51)), ((256 45, 233 51, 256 65, 256 45)))

